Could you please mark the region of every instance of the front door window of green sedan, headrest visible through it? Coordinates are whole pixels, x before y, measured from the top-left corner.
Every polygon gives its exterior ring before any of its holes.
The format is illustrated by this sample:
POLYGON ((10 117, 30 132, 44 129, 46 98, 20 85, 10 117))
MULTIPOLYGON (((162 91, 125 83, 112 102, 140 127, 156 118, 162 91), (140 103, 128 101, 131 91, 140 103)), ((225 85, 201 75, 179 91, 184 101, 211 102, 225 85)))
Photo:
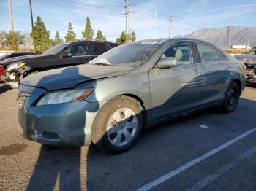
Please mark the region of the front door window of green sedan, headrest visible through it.
POLYGON ((162 54, 161 58, 176 58, 178 64, 193 63, 192 50, 189 43, 179 43, 171 45, 162 54))

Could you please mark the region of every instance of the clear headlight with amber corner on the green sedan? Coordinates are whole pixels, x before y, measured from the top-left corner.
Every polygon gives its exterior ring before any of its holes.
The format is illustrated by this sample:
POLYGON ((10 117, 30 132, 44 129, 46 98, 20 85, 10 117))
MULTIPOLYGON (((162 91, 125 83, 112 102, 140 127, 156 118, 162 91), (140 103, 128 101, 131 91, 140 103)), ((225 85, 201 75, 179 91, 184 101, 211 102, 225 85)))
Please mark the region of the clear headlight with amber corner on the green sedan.
POLYGON ((36 106, 61 104, 72 101, 83 100, 92 93, 94 88, 86 90, 58 90, 45 94, 36 104, 36 106))

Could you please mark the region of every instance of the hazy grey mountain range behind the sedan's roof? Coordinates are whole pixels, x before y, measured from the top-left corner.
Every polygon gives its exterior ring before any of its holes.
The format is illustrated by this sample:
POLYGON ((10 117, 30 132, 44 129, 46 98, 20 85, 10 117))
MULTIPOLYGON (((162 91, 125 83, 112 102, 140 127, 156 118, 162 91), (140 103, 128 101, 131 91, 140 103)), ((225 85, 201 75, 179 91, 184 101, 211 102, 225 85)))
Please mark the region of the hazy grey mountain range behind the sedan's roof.
MULTIPOLYGON (((225 49, 227 44, 227 27, 223 28, 205 28, 194 31, 191 34, 179 35, 175 37, 187 37, 194 39, 202 39, 218 47, 225 49)), ((256 46, 256 27, 230 26, 228 48, 232 45, 256 46)))

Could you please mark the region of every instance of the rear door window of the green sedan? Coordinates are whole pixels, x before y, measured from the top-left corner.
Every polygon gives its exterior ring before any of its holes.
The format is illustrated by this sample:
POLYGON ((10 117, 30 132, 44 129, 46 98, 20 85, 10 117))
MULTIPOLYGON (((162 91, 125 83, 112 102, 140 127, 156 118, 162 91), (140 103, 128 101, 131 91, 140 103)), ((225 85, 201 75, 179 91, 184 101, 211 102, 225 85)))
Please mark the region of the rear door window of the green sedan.
POLYGON ((196 42, 196 44, 202 63, 211 63, 219 61, 219 56, 217 55, 215 48, 209 47, 206 44, 200 44, 198 42, 196 42))

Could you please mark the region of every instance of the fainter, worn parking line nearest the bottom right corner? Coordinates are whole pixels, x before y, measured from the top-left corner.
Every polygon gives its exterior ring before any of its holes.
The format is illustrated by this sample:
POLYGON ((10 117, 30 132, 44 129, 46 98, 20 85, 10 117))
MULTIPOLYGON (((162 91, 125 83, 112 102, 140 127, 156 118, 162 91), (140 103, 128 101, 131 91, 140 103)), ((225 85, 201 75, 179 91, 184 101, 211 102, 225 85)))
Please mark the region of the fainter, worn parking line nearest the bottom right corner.
POLYGON ((235 165, 240 163, 241 161, 245 160, 246 158, 250 157, 252 154, 256 152, 256 146, 252 149, 249 149, 249 151, 244 152, 244 154, 237 157, 233 162, 227 163, 227 165, 222 166, 222 168, 219 168, 214 174, 211 174, 209 176, 206 176, 205 179, 201 180, 200 182, 197 182, 194 186, 190 187, 188 191, 195 191, 200 190, 203 187, 206 187, 208 184, 213 182, 215 179, 218 179, 219 176, 222 174, 225 174, 225 172, 229 171, 230 168, 233 168, 235 165))

